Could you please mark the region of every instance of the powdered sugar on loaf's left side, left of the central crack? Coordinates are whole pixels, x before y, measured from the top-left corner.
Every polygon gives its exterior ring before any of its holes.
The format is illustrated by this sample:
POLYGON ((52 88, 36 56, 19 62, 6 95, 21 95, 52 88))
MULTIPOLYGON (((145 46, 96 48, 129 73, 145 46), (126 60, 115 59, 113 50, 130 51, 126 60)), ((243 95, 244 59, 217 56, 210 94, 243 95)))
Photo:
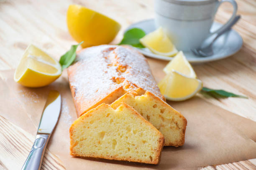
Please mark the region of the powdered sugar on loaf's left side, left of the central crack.
POLYGON ((77 55, 78 61, 68 69, 75 105, 82 107, 78 108, 79 110, 86 110, 121 86, 111 80, 112 77, 118 76, 118 73, 115 67, 108 65, 104 57, 110 52, 108 49, 107 45, 101 48, 87 48, 77 55))

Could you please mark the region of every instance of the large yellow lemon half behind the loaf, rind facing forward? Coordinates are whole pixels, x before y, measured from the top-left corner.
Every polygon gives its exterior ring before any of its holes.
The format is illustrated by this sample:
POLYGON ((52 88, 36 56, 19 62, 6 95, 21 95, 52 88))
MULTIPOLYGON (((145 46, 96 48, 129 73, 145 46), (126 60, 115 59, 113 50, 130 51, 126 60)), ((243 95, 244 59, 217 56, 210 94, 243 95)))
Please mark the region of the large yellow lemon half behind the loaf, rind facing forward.
POLYGON ((82 47, 108 44, 121 28, 115 20, 81 5, 69 5, 67 27, 74 40, 84 41, 82 47))

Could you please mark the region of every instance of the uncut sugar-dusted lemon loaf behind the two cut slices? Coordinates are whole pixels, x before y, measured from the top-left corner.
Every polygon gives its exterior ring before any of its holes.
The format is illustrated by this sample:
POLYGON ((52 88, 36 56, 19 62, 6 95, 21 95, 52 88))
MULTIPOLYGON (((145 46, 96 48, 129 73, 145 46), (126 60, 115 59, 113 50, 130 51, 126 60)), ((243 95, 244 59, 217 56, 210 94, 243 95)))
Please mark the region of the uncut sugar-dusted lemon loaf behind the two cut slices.
POLYGON ((101 103, 110 104, 139 87, 165 100, 146 58, 131 47, 100 45, 81 50, 68 68, 77 115, 101 103))

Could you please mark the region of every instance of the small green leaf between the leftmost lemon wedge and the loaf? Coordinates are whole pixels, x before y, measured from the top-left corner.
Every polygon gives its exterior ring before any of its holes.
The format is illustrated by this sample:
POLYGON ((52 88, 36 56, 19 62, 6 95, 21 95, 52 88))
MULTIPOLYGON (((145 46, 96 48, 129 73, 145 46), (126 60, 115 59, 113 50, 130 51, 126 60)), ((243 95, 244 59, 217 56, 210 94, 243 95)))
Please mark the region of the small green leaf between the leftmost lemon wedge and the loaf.
POLYGON ((65 68, 69 67, 69 65, 71 65, 74 62, 74 60, 76 59, 76 55, 77 55, 77 53, 76 53, 77 47, 79 45, 81 45, 82 43, 83 43, 83 41, 77 45, 72 45, 70 50, 61 56, 61 58, 59 59, 59 63, 61 65, 61 70, 64 70, 65 68))

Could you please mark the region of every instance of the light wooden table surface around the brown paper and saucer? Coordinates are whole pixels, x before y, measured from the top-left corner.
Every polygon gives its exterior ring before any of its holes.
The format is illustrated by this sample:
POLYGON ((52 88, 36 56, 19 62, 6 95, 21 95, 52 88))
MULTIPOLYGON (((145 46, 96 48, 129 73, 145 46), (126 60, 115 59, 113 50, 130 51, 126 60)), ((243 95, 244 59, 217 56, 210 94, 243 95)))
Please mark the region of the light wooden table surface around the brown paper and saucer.
MULTIPOLYGON (((236 0, 236 2, 238 14, 242 18, 233 29, 243 37, 243 47, 235 55, 226 59, 193 67, 204 86, 249 97, 249 99, 204 98, 204 100, 256 121, 256 0, 236 0)), ((69 4, 73 3, 84 5, 117 20, 122 25, 122 29, 113 41, 114 44, 120 41, 123 31, 131 23, 154 18, 153 0, 0 0, 0 70, 15 69, 30 43, 59 59, 71 44, 76 43, 69 35, 66 25, 66 11, 69 4)), ((230 4, 224 3, 218 10, 215 20, 225 23, 232 10, 230 4)), ((156 80, 159 81, 157 78, 156 80)), ((11 133, 26 134, 4 117, 0 117, 0 123, 12 127, 11 133)), ((3 133, 0 131, 0 138, 3 137, 3 133)), ((27 143, 26 150, 29 150, 33 137, 26 139, 27 141, 23 143, 27 143)), ((26 157, 26 155, 20 156, 26 157)), ((42 169, 64 169, 54 155, 48 153, 46 157, 49 159, 44 161, 42 169), (49 163, 56 166, 52 167, 49 163)), ((19 156, 13 159, 18 161, 19 156)), ((8 167, 10 167, 8 162, 0 156, 0 169, 12 169, 8 167)), ((256 159, 202 169, 256 170, 256 159)))

